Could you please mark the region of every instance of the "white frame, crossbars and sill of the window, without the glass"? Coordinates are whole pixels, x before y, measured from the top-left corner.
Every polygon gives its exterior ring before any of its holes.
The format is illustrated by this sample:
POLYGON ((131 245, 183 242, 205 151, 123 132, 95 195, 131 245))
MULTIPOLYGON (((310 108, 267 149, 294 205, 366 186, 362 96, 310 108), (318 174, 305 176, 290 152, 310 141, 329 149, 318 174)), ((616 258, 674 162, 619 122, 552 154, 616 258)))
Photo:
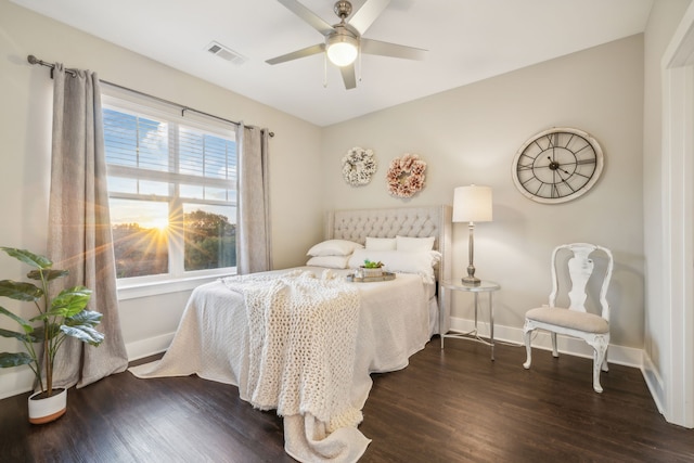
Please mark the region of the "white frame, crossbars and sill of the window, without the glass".
MULTIPOLYGON (((147 99, 144 95, 133 94, 124 89, 111 88, 104 86, 101 92, 102 108, 113 110, 137 114, 143 117, 152 117, 156 120, 167 121, 169 124, 167 138, 169 141, 169 163, 178 163, 178 130, 179 126, 184 126, 193 130, 200 130, 205 133, 218 136, 226 139, 232 139, 236 143, 235 127, 230 124, 214 118, 200 115, 194 112, 188 112, 182 106, 172 106, 155 99, 147 99), (172 127, 171 127, 172 126, 172 127)), ((236 179, 239 176, 239 163, 236 153, 236 179)), ((200 183, 200 177, 178 173, 170 171, 154 171, 138 169, 137 167, 106 165, 108 177, 136 178, 139 180, 152 180, 167 182, 174 185, 174 191, 167 196, 138 194, 126 192, 112 192, 108 190, 108 200, 139 200, 139 201, 160 201, 169 204, 169 219, 172 218, 174 210, 178 210, 179 218, 183 217, 183 205, 201 204, 206 206, 231 206, 237 208, 236 201, 219 201, 219 200, 196 200, 182 198, 179 196, 179 184, 184 183, 189 179, 191 183, 200 183)), ((205 187, 218 187, 229 189, 229 180, 206 178, 205 187)), ((237 194, 237 184, 233 185, 233 190, 237 194)), ((236 209, 237 210, 237 209, 236 209)), ((176 218, 176 217, 174 217, 176 218)), ((235 219, 235 218, 234 218, 235 219)), ((234 220, 234 224, 235 220, 234 220)), ((131 298, 153 296, 157 294, 176 293, 192 290, 203 283, 214 281, 220 276, 236 274, 236 267, 223 267, 217 269, 203 269, 185 271, 184 265, 184 239, 182 233, 168 233, 168 273, 123 278, 116 280, 118 291, 118 299, 126 300, 131 298)))

